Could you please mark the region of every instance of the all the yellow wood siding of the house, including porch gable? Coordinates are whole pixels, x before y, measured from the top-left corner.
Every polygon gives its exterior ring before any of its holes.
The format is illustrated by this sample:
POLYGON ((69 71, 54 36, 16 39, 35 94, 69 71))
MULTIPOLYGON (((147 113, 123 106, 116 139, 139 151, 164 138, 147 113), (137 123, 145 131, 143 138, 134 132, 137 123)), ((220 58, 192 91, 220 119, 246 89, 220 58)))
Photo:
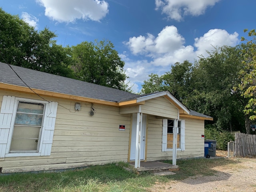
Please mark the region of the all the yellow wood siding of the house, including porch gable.
MULTIPOLYGON (((0 106, 4 95, 42 100, 35 94, 0 90, 0 106)), ((26 172, 76 168, 110 162, 128 161, 131 114, 138 106, 115 107, 75 100, 44 97, 58 102, 56 124, 50 156, 0 158, 2 172, 26 172), (74 110, 76 102, 81 110, 74 110), (119 131, 125 125, 125 131, 119 131)), ((172 159, 172 151, 162 152, 162 118, 178 118, 178 109, 166 98, 146 100, 141 112, 148 117, 146 130, 146 160, 172 159)), ((185 151, 177 158, 204 156, 204 120, 185 119, 185 151)))

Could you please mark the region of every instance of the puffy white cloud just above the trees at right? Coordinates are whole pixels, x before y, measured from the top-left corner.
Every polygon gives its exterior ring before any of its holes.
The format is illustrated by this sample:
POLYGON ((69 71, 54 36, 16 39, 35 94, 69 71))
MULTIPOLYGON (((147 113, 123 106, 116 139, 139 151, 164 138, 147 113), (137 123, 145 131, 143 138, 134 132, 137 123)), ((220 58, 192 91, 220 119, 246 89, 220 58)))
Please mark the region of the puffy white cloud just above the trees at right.
POLYGON ((211 51, 216 46, 235 46, 238 42, 237 32, 229 34, 226 30, 211 29, 204 36, 195 38, 194 46, 197 48, 196 55, 207 56, 206 50, 211 51))

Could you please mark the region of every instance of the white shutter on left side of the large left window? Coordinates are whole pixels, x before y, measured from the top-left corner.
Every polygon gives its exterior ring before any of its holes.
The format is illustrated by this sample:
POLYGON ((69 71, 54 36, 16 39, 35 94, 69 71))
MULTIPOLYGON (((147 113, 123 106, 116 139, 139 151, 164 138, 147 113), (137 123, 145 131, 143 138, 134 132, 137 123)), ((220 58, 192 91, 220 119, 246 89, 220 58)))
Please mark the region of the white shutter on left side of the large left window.
POLYGON ((0 158, 4 158, 14 109, 14 96, 3 96, 0 111, 0 158))

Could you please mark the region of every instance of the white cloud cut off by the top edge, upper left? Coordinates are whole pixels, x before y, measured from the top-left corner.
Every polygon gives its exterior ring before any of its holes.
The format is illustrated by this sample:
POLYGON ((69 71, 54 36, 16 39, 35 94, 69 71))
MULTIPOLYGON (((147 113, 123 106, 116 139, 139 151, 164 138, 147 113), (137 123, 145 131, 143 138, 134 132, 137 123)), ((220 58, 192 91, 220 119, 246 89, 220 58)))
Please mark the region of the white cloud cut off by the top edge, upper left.
POLYGON ((76 19, 100 21, 108 14, 104 0, 37 0, 45 7, 45 15, 58 22, 75 22, 76 19))

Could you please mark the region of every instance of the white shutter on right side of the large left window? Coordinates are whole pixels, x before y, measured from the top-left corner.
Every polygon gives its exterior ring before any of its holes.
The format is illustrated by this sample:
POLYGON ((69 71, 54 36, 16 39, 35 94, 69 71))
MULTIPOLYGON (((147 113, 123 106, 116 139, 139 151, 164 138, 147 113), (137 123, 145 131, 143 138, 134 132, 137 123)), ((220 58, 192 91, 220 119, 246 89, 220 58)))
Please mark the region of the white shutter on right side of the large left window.
MULTIPOLYGON (((41 156, 50 156, 52 150, 53 133, 57 114, 58 102, 49 102, 42 130, 41 156)), ((40 151, 39 151, 40 152, 40 151)))

